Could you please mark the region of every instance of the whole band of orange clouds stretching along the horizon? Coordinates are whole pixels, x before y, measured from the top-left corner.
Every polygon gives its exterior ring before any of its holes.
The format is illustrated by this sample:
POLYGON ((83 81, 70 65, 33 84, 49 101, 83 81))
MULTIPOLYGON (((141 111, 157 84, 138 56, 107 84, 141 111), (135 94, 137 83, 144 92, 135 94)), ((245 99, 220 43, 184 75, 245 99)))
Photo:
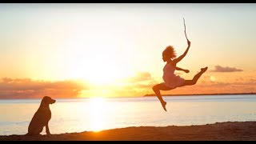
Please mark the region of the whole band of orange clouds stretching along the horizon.
MULTIPOLYGON (((256 78, 234 78, 234 81, 210 82, 209 76, 194 86, 182 86, 174 90, 162 90, 162 94, 214 94, 256 92, 256 78), (240 81, 238 81, 240 80, 240 81)), ((107 97, 130 97, 154 94, 152 86, 158 84, 150 73, 138 73, 127 81, 115 85, 89 86, 82 80, 39 81, 30 78, 0 78, 1 98, 52 98, 90 97, 94 94, 106 94, 107 97), (107 92, 104 92, 106 90, 107 92), (102 92, 103 91, 103 92, 102 92)))

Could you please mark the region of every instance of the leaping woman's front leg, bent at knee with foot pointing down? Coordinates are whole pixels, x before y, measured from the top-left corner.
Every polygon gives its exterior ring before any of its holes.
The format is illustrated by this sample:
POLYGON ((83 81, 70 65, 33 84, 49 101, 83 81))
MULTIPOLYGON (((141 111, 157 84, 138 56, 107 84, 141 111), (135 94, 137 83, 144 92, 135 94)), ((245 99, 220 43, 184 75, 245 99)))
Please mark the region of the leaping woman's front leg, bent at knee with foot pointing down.
MULTIPOLYGON (((153 86, 154 93, 158 96, 164 110, 166 110, 166 102, 162 99, 160 90, 172 90, 172 88, 165 86, 163 83, 153 86)), ((167 111, 167 110, 166 110, 167 111)))

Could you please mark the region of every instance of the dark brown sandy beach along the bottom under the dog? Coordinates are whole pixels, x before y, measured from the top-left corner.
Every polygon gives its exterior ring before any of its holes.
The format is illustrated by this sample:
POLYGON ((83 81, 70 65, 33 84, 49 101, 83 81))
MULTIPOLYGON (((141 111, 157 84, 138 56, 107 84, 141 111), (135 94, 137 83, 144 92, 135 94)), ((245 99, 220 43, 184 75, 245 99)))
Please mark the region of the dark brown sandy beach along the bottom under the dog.
POLYGON ((138 126, 99 132, 0 136, 1 141, 255 141, 256 122, 216 122, 198 126, 138 126))

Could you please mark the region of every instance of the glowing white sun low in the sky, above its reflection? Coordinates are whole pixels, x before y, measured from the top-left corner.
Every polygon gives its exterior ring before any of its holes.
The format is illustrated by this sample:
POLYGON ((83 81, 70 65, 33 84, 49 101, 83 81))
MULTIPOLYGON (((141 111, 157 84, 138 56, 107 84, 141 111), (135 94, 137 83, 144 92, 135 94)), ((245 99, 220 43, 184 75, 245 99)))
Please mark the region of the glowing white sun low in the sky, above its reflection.
POLYGON ((69 61, 70 69, 66 72, 66 78, 82 78, 94 86, 114 84, 118 79, 129 75, 118 58, 114 58, 115 55, 117 54, 97 54, 96 57, 92 54, 73 58, 69 61))

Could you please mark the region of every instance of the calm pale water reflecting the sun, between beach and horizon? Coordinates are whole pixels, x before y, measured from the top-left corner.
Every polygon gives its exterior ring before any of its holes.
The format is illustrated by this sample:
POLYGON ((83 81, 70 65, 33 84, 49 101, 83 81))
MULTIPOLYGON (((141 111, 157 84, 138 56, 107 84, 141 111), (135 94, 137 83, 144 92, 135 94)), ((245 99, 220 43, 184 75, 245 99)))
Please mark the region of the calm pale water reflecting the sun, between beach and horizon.
MULTIPOLYGON (((98 131, 128 126, 190 126, 256 121, 256 95, 57 98, 50 105, 51 134, 98 131)), ((0 100, 0 135, 26 134, 41 99, 0 100)), ((46 134, 45 128, 41 134, 46 134)))

